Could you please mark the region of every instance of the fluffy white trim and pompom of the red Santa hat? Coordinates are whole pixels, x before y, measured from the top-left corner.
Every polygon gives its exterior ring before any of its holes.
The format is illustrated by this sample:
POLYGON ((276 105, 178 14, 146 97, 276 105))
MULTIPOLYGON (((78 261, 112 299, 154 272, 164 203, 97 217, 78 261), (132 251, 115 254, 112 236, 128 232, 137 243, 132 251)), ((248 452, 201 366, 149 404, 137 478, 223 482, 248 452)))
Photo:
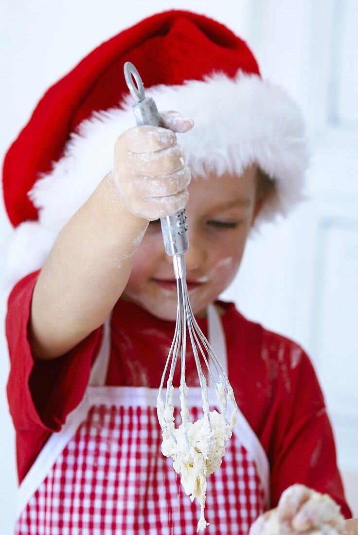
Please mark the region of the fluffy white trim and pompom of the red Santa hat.
MULTIPOLYGON (((256 163, 276 180, 277 193, 269 197, 258 220, 286 215, 302 198, 309 162, 305 124, 283 89, 238 71, 234 79, 215 73, 203 81, 154 86, 146 90, 146 96, 154 98, 159 111, 177 110, 194 119, 194 128, 179 138, 194 176, 208 172, 240 175, 256 163)), ((39 209, 39 221, 22 223, 14 232, 10 247, 13 282, 41 268, 58 232, 112 169, 117 137, 135 125, 132 104, 128 94, 121 108, 95 112, 82 121, 64 156, 37 180, 29 197, 39 209), (35 227, 46 238, 30 244, 27 231, 35 235, 35 227)))

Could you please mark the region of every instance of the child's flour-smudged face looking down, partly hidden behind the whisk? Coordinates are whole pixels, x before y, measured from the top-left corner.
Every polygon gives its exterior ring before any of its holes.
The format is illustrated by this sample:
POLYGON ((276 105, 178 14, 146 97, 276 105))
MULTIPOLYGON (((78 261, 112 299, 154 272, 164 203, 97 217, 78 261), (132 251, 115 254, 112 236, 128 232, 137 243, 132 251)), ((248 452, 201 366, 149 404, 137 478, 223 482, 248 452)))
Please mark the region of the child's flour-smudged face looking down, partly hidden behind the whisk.
MULTIPOLYGON (((256 167, 248 167, 241 177, 225 174, 193 179, 188 190, 186 278, 193 312, 203 316, 207 305, 224 291, 239 268, 259 209, 256 167)), ((172 258, 164 251, 159 220, 149 223, 122 298, 158 318, 176 319, 177 285, 172 258)))

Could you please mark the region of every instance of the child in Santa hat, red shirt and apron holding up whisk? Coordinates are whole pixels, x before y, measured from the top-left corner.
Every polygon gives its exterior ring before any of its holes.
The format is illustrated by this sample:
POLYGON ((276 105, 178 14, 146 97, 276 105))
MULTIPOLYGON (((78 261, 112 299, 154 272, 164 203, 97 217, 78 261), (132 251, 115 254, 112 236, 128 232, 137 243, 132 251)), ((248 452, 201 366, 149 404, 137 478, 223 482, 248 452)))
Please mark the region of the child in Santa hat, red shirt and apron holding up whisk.
MULTIPOLYGON (((207 532, 247 533, 294 483, 349 516, 308 356, 217 300, 250 228, 291 208, 306 167, 299 110, 243 41, 199 14, 143 20, 44 95, 4 164, 21 279, 6 318, 17 533, 195 532, 155 410, 177 302, 158 218, 184 205, 189 298, 240 409, 208 480, 207 532), (127 60, 159 110, 178 110, 162 112, 165 128, 133 126, 127 60)), ((186 378, 199 385, 189 347, 186 378)))

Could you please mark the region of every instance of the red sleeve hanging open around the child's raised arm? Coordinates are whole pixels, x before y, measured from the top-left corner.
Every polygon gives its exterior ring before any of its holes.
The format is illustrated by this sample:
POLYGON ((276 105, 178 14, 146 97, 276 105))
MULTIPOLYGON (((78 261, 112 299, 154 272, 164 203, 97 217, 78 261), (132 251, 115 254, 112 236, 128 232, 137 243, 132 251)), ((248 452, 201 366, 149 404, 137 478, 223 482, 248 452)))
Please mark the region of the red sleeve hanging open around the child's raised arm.
POLYGON ((21 279, 7 301, 5 331, 11 362, 7 399, 17 432, 61 429, 83 398, 102 337, 101 326, 65 355, 48 361, 34 359, 28 322, 39 273, 21 279))

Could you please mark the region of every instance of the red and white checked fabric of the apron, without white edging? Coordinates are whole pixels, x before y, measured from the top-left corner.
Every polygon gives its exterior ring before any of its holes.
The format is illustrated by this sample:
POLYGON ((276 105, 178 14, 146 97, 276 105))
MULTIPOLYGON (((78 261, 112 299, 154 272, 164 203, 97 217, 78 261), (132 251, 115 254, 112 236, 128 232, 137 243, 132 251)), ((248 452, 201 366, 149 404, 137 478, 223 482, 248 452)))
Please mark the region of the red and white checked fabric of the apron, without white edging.
MULTIPOLYGON (((200 507, 184 493, 161 440, 155 407, 93 406, 22 511, 16 534, 196 533, 200 507)), ((264 510, 256 465, 233 435, 208 477, 205 532, 246 535, 264 510)))

